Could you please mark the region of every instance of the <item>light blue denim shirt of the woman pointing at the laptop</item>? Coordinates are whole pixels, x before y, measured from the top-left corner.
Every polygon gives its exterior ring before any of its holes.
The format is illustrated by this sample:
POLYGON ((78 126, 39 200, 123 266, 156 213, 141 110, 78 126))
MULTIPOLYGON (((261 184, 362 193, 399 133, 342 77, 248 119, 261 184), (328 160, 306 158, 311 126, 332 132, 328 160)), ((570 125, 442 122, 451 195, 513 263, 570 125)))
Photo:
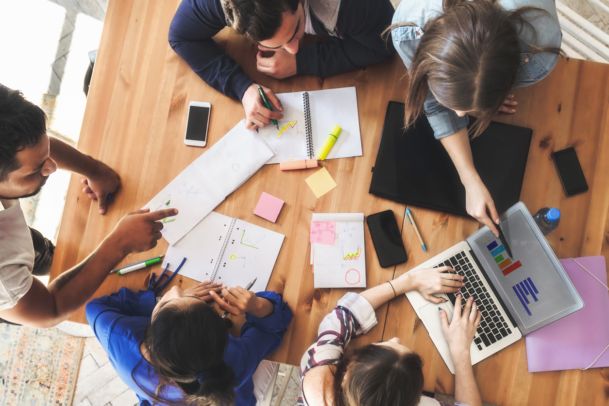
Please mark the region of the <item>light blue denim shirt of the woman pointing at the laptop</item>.
MULTIPOLYGON (((535 43, 535 32, 528 24, 524 24, 523 27, 520 27, 520 24, 516 25, 522 53, 516 87, 537 83, 552 72, 558 62, 558 54, 549 51, 530 53, 531 46, 527 44, 560 47, 562 33, 554 0, 499 0, 499 4, 504 10, 533 5, 549 12, 547 14, 531 10, 524 13, 524 18, 537 32, 537 43, 535 43)), ((442 13, 442 0, 403 0, 395 10, 392 24, 404 22, 415 24, 415 26, 392 30, 393 45, 409 70, 420 38, 424 34, 423 27, 429 19, 437 17, 440 13, 442 13)), ((424 108, 437 139, 452 135, 469 123, 467 115, 457 116, 457 113, 438 103, 431 92, 425 100, 424 108)))

